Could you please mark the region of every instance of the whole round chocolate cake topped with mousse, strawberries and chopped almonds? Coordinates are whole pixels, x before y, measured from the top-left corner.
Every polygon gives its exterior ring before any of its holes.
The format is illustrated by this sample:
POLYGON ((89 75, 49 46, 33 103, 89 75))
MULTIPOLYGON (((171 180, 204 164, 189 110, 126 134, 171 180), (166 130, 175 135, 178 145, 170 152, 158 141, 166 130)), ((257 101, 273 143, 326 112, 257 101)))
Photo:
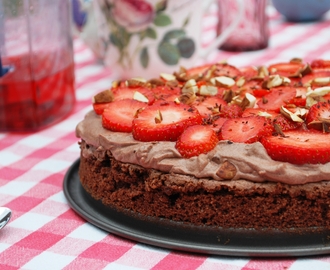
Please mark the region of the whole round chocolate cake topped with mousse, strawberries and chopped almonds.
POLYGON ((113 82, 76 128, 95 200, 202 226, 330 228, 330 61, 113 82))

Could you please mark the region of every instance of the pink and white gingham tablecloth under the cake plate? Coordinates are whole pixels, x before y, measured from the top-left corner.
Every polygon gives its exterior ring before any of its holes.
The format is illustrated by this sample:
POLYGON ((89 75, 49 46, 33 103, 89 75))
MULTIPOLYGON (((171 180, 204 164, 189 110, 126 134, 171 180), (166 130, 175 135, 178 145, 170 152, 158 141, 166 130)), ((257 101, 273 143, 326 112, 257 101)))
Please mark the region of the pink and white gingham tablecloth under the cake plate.
MULTIPOLYGON (((302 57, 330 59, 330 14, 318 23, 294 24, 270 9, 266 50, 219 51, 212 61, 238 66, 302 57)), ((204 42, 214 38, 205 20, 204 42)), ((239 258, 197 255, 136 243, 105 232, 78 216, 63 194, 63 178, 79 157, 75 126, 91 97, 111 83, 111 70, 96 63, 80 39, 74 42, 77 103, 62 122, 31 134, 0 133, 0 205, 12 209, 0 231, 0 269, 330 269, 328 256, 239 258)))

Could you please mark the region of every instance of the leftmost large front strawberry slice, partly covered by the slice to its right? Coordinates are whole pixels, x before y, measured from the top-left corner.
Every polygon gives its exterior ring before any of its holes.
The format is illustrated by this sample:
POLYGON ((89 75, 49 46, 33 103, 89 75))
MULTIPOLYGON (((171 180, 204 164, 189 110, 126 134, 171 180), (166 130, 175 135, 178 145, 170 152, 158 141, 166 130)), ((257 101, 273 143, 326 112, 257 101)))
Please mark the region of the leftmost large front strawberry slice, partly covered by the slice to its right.
POLYGON ((144 102, 134 99, 113 101, 102 114, 102 126, 111 131, 132 132, 136 112, 146 106, 144 102))

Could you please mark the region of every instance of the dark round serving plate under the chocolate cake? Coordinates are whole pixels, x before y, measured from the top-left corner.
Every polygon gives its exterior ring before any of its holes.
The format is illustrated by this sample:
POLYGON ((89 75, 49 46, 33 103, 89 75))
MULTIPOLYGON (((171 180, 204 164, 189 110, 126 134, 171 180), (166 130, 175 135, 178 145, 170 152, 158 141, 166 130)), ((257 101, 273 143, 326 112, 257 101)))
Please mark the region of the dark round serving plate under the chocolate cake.
POLYGON ((85 220, 118 236, 173 250, 213 255, 296 257, 330 253, 328 230, 224 229, 116 211, 85 192, 78 175, 79 163, 78 159, 65 175, 65 197, 85 220))

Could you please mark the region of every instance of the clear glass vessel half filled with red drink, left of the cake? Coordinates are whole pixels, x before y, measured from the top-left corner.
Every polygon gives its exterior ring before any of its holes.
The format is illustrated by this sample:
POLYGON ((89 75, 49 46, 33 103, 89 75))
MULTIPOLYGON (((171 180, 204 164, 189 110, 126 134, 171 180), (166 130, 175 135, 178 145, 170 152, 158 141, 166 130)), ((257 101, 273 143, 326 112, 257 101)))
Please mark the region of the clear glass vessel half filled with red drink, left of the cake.
POLYGON ((75 102, 70 0, 0 0, 0 131, 35 131, 75 102))

